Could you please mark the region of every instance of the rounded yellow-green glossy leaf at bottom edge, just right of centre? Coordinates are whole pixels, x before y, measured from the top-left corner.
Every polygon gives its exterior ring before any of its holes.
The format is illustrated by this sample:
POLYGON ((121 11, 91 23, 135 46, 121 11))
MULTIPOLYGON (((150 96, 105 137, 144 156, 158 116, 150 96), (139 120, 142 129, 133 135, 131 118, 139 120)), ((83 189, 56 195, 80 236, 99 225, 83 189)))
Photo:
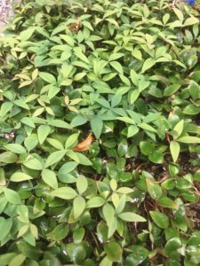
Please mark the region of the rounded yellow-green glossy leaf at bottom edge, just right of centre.
POLYGON ((109 242, 104 245, 104 250, 108 255, 108 259, 112 262, 121 262, 122 261, 122 247, 116 242, 109 242))

